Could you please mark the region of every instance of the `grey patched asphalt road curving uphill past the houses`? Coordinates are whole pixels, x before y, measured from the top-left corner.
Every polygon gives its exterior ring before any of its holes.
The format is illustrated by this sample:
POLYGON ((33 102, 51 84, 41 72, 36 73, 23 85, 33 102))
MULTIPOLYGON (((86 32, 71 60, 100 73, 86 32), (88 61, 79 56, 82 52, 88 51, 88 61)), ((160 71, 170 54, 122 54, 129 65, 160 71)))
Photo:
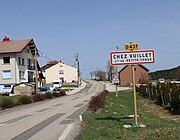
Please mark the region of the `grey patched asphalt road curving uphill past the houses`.
POLYGON ((76 94, 0 112, 0 140, 60 140, 103 84, 89 80, 76 94), (63 135, 63 136, 62 136, 63 135))

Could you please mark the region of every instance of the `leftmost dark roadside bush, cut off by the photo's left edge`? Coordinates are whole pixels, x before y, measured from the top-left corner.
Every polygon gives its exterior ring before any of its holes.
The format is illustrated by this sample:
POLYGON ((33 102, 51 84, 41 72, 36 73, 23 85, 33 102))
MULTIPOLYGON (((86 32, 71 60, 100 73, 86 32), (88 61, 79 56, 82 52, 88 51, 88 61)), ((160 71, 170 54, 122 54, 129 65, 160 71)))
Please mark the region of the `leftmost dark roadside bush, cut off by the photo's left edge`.
POLYGON ((11 107, 14 107, 15 105, 16 103, 11 98, 4 98, 0 104, 1 109, 11 108, 11 107))

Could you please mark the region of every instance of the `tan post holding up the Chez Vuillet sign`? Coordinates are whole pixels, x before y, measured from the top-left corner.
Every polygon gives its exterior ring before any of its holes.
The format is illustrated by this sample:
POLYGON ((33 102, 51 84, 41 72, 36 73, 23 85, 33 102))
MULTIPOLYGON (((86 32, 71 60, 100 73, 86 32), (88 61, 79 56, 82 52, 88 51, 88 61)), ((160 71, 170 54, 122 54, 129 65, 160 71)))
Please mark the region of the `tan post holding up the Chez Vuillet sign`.
POLYGON ((131 65, 131 68, 132 68, 132 82, 133 82, 133 95, 134 95, 134 124, 137 124, 136 81, 135 81, 134 65, 131 65))

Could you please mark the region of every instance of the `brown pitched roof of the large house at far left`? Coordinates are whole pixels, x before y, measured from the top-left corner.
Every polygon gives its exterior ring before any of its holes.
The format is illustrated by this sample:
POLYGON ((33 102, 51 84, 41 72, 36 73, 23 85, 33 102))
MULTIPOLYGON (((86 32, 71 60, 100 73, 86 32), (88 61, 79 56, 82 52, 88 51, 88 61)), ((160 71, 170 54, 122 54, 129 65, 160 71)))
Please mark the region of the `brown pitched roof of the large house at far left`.
MULTIPOLYGON (((0 42, 0 54, 2 53, 20 53, 22 52, 27 46, 29 46, 31 53, 35 54, 36 45, 33 39, 27 40, 7 40, 0 42)), ((37 49, 37 48, 36 48, 37 49)), ((38 54, 38 50, 37 54, 38 54)))

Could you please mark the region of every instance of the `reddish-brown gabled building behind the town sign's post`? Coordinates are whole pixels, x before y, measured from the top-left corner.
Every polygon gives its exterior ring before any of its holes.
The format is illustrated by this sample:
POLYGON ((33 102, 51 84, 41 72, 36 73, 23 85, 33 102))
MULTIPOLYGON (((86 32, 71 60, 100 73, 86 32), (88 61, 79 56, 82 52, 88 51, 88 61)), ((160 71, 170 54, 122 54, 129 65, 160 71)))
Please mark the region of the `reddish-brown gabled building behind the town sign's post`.
MULTIPOLYGON (((149 79, 148 69, 143 65, 135 65, 135 80, 136 84, 146 83, 149 79)), ((119 71, 119 82, 120 85, 132 85, 132 70, 131 65, 126 65, 122 70, 119 71)))

